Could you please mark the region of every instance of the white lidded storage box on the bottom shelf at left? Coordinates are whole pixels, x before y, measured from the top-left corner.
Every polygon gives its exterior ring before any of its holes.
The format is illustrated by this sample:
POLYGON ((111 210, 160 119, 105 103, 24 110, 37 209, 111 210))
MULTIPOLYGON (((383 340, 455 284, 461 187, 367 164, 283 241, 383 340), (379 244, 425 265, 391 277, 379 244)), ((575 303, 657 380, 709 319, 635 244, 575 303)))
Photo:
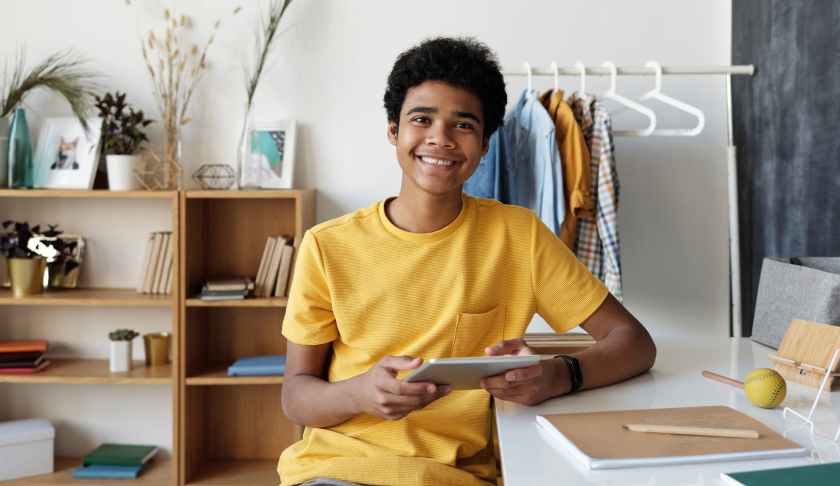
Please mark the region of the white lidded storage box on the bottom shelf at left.
POLYGON ((54 438, 48 420, 0 422, 0 481, 53 472, 54 438))

